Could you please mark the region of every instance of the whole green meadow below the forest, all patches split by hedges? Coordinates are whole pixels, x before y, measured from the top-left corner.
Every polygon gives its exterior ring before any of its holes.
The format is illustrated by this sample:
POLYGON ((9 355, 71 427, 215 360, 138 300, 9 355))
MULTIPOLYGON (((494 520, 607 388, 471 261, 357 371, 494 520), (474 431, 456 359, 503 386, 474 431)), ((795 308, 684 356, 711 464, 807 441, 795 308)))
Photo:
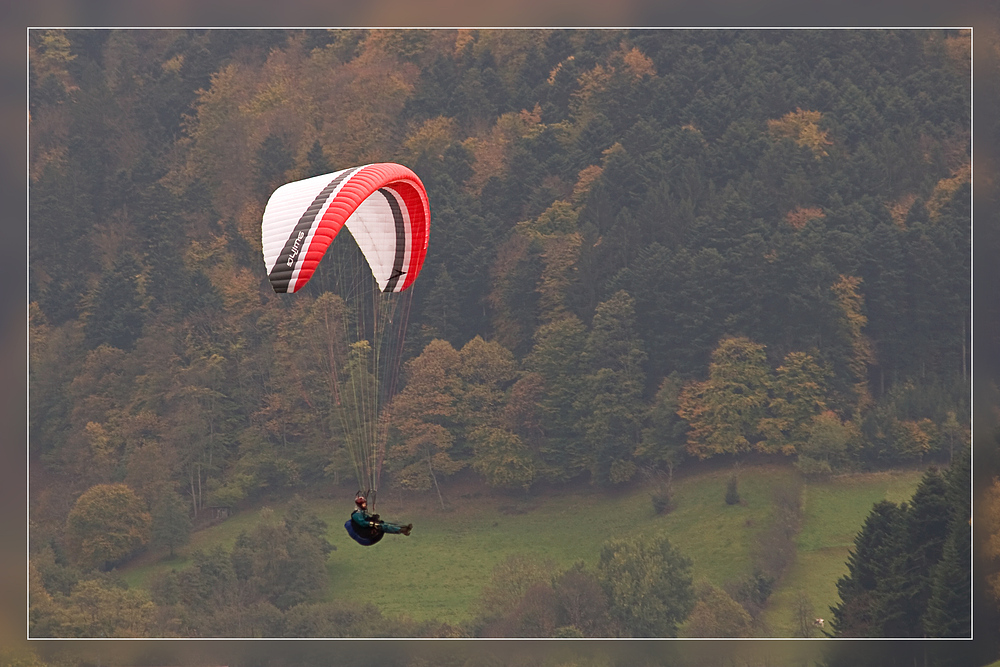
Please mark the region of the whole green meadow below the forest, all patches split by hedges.
MULTIPOLYGON (((650 489, 604 491, 593 487, 552 490, 532 498, 498 496, 466 487, 446 493, 442 510, 436 495, 400 494, 379 501, 384 518, 413 522, 410 537, 387 535, 374 547, 347 537, 351 510, 342 500, 310 500, 329 525, 330 584, 326 599, 371 602, 390 616, 453 624, 469 620, 494 566, 513 554, 528 554, 566 568, 583 561, 593 568, 601 545, 615 537, 665 534, 692 560, 695 580, 716 585, 738 579, 751 567, 750 549, 767 526, 771 489, 792 480, 790 466, 746 467, 740 473, 739 505, 724 502, 730 470, 691 472, 675 479, 674 509, 657 515, 650 489)), ((836 580, 873 503, 909 498, 920 471, 837 477, 807 484, 799 553, 772 595, 765 613, 771 636, 795 636, 798 591, 807 591, 817 616, 829 616, 837 600, 836 580)), ((271 504, 276 512, 283 503, 271 504)), ((132 586, 146 586, 158 572, 182 569, 196 549, 232 546, 242 530, 257 521, 258 510, 236 516, 192 535, 173 560, 147 554, 122 571, 132 586), (158 560, 159 558, 159 560, 158 560)))

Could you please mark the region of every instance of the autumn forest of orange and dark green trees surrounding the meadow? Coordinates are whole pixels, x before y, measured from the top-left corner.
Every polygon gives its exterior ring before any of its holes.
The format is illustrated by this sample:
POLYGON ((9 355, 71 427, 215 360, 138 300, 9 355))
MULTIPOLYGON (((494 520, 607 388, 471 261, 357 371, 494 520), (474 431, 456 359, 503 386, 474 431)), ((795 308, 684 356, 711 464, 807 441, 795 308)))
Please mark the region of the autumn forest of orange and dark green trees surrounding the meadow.
POLYGON ((748 636, 773 582, 694 585, 665 538, 512 561, 469 627, 321 602, 299 500, 153 590, 116 579, 220 509, 353 484, 336 298, 322 271, 275 294, 260 223, 283 183, 391 161, 431 232, 383 485, 659 480, 669 511, 698 466, 932 466, 872 509, 827 631, 968 636, 970 41, 29 31, 30 635, 748 636))

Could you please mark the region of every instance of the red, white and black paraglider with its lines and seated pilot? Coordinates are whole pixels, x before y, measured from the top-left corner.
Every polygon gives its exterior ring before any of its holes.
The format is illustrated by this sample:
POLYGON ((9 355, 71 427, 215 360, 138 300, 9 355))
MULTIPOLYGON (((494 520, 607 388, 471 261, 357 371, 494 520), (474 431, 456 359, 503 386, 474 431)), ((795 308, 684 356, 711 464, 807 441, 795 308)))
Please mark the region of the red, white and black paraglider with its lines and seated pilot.
POLYGON ((395 391, 409 318, 409 288, 423 267, 429 234, 427 192, 416 174, 395 163, 286 183, 271 195, 261 222, 264 266, 274 291, 299 291, 323 261, 324 281, 348 313, 343 335, 350 353, 335 385, 336 403, 358 484, 370 491, 358 494, 365 499, 364 506, 356 503, 359 521, 352 515, 345 528, 366 546, 386 532, 408 535, 412 527, 404 532, 403 526, 368 515, 366 495, 374 512, 388 435, 386 406, 395 391), (345 227, 354 243, 345 239, 334 244, 345 227))

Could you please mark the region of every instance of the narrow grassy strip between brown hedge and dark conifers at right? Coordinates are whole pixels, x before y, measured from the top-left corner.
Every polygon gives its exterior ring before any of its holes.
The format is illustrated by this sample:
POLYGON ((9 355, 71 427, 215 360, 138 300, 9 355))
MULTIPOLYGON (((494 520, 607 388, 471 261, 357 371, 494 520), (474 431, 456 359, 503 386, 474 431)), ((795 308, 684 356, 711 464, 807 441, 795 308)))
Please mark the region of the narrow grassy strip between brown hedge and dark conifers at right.
POLYGON ((799 635, 796 609, 803 593, 814 617, 830 617, 830 607, 840 599, 837 579, 847 573, 854 537, 872 505, 880 500, 908 501, 922 476, 922 470, 897 470, 839 476, 805 487, 795 562, 764 614, 771 636, 799 635))

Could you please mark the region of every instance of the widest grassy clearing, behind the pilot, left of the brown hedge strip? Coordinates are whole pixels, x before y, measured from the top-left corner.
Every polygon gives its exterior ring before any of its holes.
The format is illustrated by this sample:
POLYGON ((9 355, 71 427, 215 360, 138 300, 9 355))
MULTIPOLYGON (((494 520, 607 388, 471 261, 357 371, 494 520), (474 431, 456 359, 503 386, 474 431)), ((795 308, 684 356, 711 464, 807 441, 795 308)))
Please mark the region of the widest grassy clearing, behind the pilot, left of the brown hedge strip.
POLYGON ((387 536, 376 548, 334 533, 341 548, 329 561, 330 596, 371 601, 388 614, 416 620, 460 623, 473 614, 494 566, 511 554, 531 554, 559 568, 576 561, 593 567, 605 541, 644 533, 666 533, 693 560, 696 578, 725 581, 749 569, 752 536, 770 512, 768 487, 788 475, 778 468, 748 474, 741 486, 746 506, 723 502, 728 473, 716 472, 679 480, 677 508, 666 516, 654 513, 646 490, 584 489, 544 498, 534 507, 515 503, 519 513, 477 512, 475 500, 463 512, 411 513, 413 535, 387 536), (367 573, 377 575, 377 585, 367 573))

